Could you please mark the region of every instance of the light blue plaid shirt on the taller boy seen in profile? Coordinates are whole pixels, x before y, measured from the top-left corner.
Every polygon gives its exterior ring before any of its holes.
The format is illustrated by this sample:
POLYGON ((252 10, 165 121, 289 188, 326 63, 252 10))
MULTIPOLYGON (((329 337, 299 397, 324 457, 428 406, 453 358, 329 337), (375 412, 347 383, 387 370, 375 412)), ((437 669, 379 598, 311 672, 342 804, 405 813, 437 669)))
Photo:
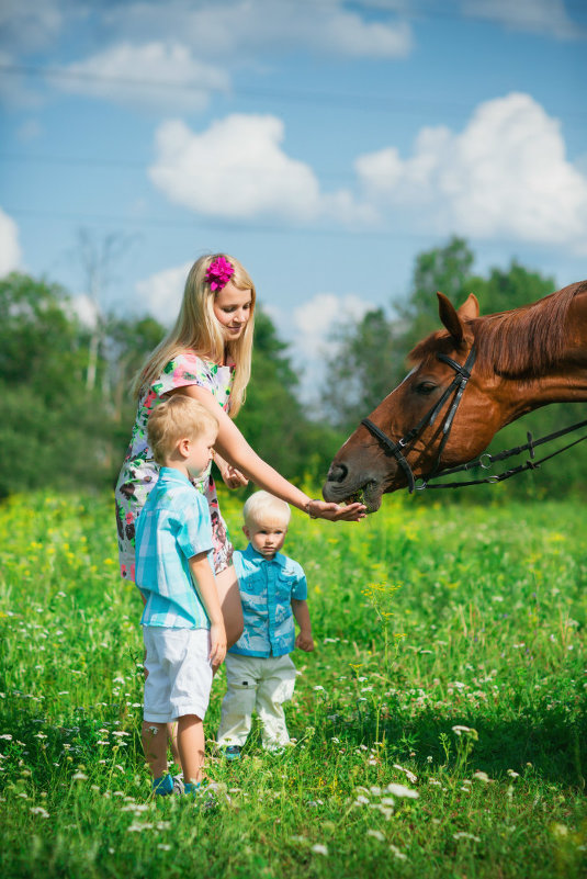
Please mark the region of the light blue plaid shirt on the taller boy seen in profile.
POLYGON ((207 552, 212 525, 207 500, 173 467, 161 467, 136 528, 136 585, 147 604, 143 626, 210 629, 188 560, 207 552))

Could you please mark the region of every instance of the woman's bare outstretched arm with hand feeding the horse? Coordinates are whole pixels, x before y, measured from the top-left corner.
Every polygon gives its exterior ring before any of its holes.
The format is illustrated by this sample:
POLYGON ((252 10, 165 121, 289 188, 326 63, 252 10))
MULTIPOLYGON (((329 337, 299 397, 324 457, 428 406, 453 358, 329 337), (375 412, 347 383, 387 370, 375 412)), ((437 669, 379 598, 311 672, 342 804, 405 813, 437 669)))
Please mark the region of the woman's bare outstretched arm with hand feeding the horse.
POLYGON ((270 464, 259 458, 257 452, 251 449, 238 427, 226 415, 224 409, 218 406, 212 392, 196 384, 178 387, 172 394, 185 394, 193 397, 218 420, 218 438, 215 449, 222 454, 229 464, 241 471, 247 478, 253 482, 259 488, 264 488, 282 500, 292 504, 297 509, 311 514, 316 519, 329 519, 330 521, 357 521, 365 516, 363 504, 349 504, 339 506, 338 504, 327 504, 325 500, 313 500, 295 485, 287 482, 270 464))

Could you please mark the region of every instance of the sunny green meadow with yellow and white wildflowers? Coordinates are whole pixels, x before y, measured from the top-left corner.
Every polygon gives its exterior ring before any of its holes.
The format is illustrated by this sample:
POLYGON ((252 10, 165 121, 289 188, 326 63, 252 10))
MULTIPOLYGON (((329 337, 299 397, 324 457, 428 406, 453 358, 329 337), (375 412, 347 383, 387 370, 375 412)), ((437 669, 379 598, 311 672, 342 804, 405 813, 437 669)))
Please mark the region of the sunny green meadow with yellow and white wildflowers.
MULTIPOLYGON (((0 870, 12 877, 579 877, 587 867, 587 514, 394 496, 362 523, 294 512, 316 640, 294 743, 215 756, 219 805, 155 801, 140 601, 112 502, 0 507, 0 870)), ((237 545, 238 498, 226 497, 237 545)))

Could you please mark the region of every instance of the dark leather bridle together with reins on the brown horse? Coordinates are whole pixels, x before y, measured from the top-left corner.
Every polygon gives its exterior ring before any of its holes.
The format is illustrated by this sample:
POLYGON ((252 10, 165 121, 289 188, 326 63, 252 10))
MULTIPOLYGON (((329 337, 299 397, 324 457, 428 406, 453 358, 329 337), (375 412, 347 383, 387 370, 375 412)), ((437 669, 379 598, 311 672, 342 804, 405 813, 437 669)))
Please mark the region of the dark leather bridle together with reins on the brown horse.
MULTIPOLYGON (((467 461, 465 464, 460 464, 459 466, 454 467, 441 467, 440 466, 440 459, 442 458, 442 452, 444 451, 444 447, 449 441, 450 432, 452 429, 452 424, 454 421, 454 416, 456 414, 456 409, 459 408, 459 404, 461 403, 464 390, 466 384, 471 377, 471 371, 473 369, 473 364, 475 363, 476 359, 476 351, 475 346, 471 348, 469 357, 466 358, 464 364, 458 363, 451 357, 447 354, 437 353, 438 360, 441 360, 443 363, 448 363, 454 370, 454 379, 449 384, 449 386, 442 392, 441 396, 434 403, 434 405, 426 413, 426 415, 418 421, 416 427, 413 427, 402 439, 393 440, 386 433, 384 433, 381 428, 379 428, 373 421, 369 418, 363 418, 361 424, 364 425, 371 433, 381 442, 381 444, 385 448, 386 452, 392 454, 402 470, 404 471, 406 478, 407 478, 407 487, 409 494, 413 494, 414 491, 424 492, 425 488, 461 488, 465 485, 482 485, 483 483, 498 483, 504 482, 504 480, 509 480, 510 476, 515 476, 517 473, 522 473, 526 470, 537 470, 544 461, 549 461, 551 458, 554 458, 561 452, 566 451, 567 449, 573 448, 579 442, 583 442, 587 439, 587 435, 584 437, 579 437, 577 440, 564 446, 562 449, 557 449, 555 452, 552 452, 544 458, 541 458, 539 461, 534 461, 534 449, 538 446, 542 446, 544 442, 549 442, 551 440, 557 439, 558 437, 563 437, 566 433, 569 433, 573 430, 578 430, 582 427, 587 425, 587 419, 584 421, 578 421, 576 425, 571 425, 569 427, 563 428, 562 430, 557 430, 554 433, 549 433, 546 437, 541 437, 538 440, 532 439, 532 435, 528 432, 527 442, 523 446, 516 446, 512 449, 506 449, 498 454, 489 454, 488 452, 484 452, 479 458, 476 458, 474 461, 467 461), (434 424, 438 414, 442 409, 445 402, 453 395, 453 399, 449 409, 447 412, 447 416, 444 418, 444 422, 442 425, 442 439, 440 440, 437 460, 434 466, 430 471, 427 476, 421 476, 418 482, 420 484, 416 484, 417 480, 414 476, 409 462, 407 461, 406 454, 404 453, 410 443, 413 443, 420 433, 428 427, 432 427, 434 424), (473 470, 473 467, 481 466, 483 470, 488 470, 495 461, 505 461, 508 458, 511 458, 516 454, 521 454, 521 452, 529 451, 530 452, 530 460, 526 461, 523 464, 519 464, 516 467, 511 467, 510 470, 504 471, 504 473, 492 474, 490 476, 485 476, 484 478, 479 480, 469 480, 467 482, 451 482, 451 483, 439 483, 437 485, 430 485, 430 480, 440 477, 440 476, 448 476, 453 473, 460 473, 466 470, 473 470)), ((409 450, 408 450, 409 451, 409 450)))

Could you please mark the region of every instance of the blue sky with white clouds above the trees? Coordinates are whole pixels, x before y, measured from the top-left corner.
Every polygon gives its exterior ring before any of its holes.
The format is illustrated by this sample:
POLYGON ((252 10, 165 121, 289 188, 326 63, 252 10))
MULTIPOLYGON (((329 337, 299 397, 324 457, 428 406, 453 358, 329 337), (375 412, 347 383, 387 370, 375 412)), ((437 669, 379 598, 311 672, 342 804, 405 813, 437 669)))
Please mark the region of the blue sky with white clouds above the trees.
POLYGON ((587 275, 583 0, 4 0, 0 36, 0 272, 81 311, 80 229, 116 243, 100 306, 163 322, 226 250, 307 390, 453 234, 587 275))

